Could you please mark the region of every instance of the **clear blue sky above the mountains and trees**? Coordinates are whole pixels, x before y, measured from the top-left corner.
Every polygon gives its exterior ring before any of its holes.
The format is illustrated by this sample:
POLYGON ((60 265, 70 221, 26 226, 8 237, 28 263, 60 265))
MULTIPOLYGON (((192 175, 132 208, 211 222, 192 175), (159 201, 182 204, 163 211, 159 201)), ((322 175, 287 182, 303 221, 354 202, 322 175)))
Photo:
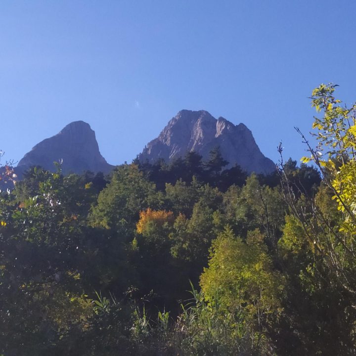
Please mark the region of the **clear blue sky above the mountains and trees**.
POLYGON ((111 164, 132 159, 181 109, 298 159, 311 91, 356 100, 354 0, 0 2, 0 149, 19 160, 72 121, 111 164))

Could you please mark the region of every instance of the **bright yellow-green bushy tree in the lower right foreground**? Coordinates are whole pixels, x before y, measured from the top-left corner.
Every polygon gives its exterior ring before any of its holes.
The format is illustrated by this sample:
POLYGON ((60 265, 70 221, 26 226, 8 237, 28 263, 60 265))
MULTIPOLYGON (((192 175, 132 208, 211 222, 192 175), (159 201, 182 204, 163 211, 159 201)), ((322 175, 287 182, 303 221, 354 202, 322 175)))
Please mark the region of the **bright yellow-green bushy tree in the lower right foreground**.
POLYGON ((258 230, 249 232, 244 242, 227 227, 213 241, 200 284, 207 301, 219 296, 221 308, 240 325, 241 338, 249 335, 257 350, 272 355, 268 328, 282 310, 283 278, 274 270, 258 230))

